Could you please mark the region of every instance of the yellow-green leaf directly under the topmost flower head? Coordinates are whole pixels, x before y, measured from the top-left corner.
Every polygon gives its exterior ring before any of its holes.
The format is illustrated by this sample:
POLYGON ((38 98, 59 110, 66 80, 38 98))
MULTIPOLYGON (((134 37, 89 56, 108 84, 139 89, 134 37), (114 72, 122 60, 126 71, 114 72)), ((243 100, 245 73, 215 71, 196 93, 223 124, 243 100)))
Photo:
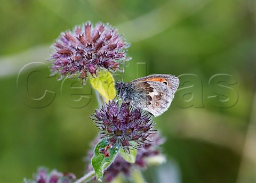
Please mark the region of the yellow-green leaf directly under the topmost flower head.
POLYGON ((116 89, 114 86, 115 80, 112 74, 107 70, 99 70, 97 77, 93 78, 89 74, 89 80, 94 89, 99 91, 100 95, 105 98, 106 101, 114 99, 116 96, 116 89))

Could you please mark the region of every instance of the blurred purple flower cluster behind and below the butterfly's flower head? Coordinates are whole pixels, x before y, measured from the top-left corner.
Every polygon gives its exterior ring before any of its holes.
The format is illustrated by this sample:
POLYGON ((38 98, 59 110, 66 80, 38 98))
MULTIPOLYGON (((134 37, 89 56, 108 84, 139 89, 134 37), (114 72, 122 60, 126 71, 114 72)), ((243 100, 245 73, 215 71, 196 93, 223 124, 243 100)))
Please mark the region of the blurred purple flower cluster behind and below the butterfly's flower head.
MULTIPOLYGON (((140 168, 145 170, 148 167, 148 161, 150 158, 160 158, 165 156, 161 152, 161 145, 164 143, 165 139, 158 134, 152 134, 149 138, 154 142, 153 144, 148 144, 143 146, 141 149, 137 151, 136 161, 135 163, 129 163, 125 161, 121 155, 117 155, 114 162, 108 167, 108 169, 104 172, 104 177, 106 182, 111 182, 114 178, 118 176, 119 173, 122 173, 125 177, 130 177, 132 171, 135 168, 140 168)), ((93 147, 99 139, 95 140, 93 147)), ((93 156, 93 151, 90 151, 86 161, 90 161, 93 156)), ((163 161, 163 160, 159 160, 163 161)), ((159 162, 162 163, 162 162, 159 162)), ((92 165, 89 164, 89 170, 93 170, 92 165)))

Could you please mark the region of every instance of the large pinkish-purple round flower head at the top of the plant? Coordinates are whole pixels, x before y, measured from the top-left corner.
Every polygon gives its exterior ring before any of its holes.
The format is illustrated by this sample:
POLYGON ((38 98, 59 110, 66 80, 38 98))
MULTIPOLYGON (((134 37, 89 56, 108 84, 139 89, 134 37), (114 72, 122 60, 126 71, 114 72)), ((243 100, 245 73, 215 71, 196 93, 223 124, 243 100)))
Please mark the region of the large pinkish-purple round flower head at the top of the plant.
POLYGON ((109 24, 90 22, 67 30, 53 44, 52 71, 63 76, 86 79, 87 74, 97 76, 98 69, 116 71, 119 64, 130 60, 126 56, 124 37, 109 24))

